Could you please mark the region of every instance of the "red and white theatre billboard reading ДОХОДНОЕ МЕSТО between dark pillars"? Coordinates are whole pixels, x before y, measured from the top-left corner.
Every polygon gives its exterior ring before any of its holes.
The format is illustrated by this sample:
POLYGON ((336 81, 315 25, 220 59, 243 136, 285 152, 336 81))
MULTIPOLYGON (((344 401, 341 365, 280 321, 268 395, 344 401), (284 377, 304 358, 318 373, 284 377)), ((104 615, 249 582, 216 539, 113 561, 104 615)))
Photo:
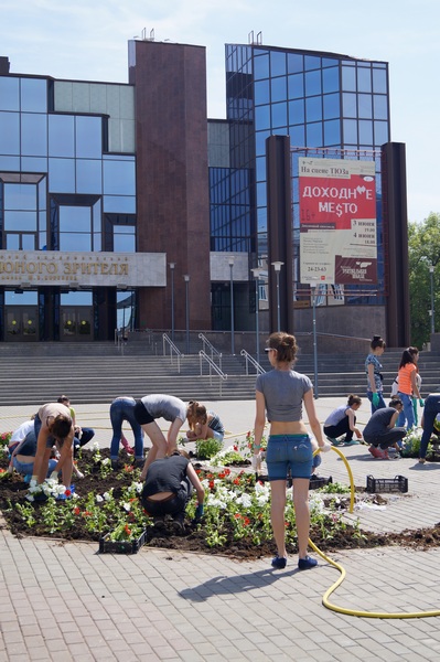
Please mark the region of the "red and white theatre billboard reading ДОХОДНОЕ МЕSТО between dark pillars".
POLYGON ((374 161, 299 157, 300 280, 377 282, 374 161))

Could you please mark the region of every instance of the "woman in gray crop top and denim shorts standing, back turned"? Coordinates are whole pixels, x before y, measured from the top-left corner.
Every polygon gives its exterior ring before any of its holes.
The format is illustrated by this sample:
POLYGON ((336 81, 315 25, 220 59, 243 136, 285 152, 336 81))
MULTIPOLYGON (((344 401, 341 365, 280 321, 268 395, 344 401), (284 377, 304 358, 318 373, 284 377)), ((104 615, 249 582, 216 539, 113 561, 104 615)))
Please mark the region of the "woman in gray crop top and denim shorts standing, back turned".
POLYGON ((261 458, 261 437, 267 415, 270 435, 266 462, 271 488, 271 522, 278 549, 272 559, 272 567, 282 569, 287 564, 285 509, 286 483, 290 469, 297 519, 298 567, 303 570, 313 568, 318 563, 307 554, 310 528, 309 479, 312 473, 313 450, 318 447, 315 441, 312 442, 302 421, 302 403, 318 446, 321 450, 330 450, 331 446, 322 438, 311 381, 292 370, 298 349, 294 337, 283 332, 272 333, 267 344, 266 352, 275 370, 257 378, 254 465, 258 466, 261 458))

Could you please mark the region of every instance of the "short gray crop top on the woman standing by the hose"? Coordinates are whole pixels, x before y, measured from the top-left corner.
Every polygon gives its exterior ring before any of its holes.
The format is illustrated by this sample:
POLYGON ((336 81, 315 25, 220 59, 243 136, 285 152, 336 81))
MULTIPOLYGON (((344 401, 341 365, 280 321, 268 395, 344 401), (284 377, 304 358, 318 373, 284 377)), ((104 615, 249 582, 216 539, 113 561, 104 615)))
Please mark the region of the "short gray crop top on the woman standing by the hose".
POLYGON ((313 388, 313 384, 307 375, 293 370, 271 370, 258 375, 256 388, 265 396, 269 423, 296 421, 302 418, 302 398, 304 393, 313 388))

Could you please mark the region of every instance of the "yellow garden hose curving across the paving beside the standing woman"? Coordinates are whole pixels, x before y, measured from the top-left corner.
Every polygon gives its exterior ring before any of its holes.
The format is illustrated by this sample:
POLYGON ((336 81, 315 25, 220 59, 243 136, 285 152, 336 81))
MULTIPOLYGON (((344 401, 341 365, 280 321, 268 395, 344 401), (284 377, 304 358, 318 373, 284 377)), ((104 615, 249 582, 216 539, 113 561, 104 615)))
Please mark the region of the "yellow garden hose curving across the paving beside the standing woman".
MULTIPOLYGON (((337 452, 337 455, 343 459, 344 465, 348 472, 351 496, 352 496, 348 512, 352 513, 353 505, 354 505, 353 473, 352 473, 352 470, 350 468, 346 457, 340 451, 340 449, 332 446, 332 450, 337 452)), ((316 455, 318 452, 321 452, 320 449, 315 450, 313 455, 316 455)), ((363 611, 361 609, 345 609, 344 607, 337 607, 337 605, 333 605, 329 600, 329 597, 344 581, 345 576, 346 576, 345 569, 342 567, 342 565, 340 565, 335 560, 332 560, 329 556, 326 556, 323 552, 321 552, 321 549, 319 549, 319 547, 316 547, 316 545, 310 538, 309 538, 309 545, 312 547, 312 549, 314 552, 316 552, 316 554, 319 554, 321 556, 321 558, 326 560, 326 563, 332 565, 334 568, 336 568, 341 573, 341 577, 324 592, 324 595, 322 597, 322 604, 324 605, 324 607, 326 609, 330 609, 331 611, 337 611, 337 613, 345 613, 345 616, 357 616, 357 617, 363 617, 363 618, 429 618, 432 616, 440 616, 440 609, 436 609, 433 611, 409 611, 409 612, 405 612, 405 611, 393 612, 391 611, 391 612, 387 612, 387 611, 363 611)))

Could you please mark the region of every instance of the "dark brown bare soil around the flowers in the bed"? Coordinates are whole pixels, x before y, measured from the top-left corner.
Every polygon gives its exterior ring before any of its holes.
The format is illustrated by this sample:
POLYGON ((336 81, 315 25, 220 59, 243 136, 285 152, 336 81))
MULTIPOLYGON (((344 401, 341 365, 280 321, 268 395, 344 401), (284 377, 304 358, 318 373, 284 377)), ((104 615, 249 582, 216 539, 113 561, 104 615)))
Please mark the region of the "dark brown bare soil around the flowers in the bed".
MULTIPOLYGON (((108 457, 108 451, 101 451, 103 457, 108 457)), ((131 459, 127 456, 124 457, 127 462, 131 462, 131 459)), ((0 460, 0 468, 6 468, 6 460, 0 460)), ((124 476, 115 480, 114 474, 107 479, 103 479, 99 474, 98 468, 90 462, 90 452, 83 450, 83 458, 78 460, 78 468, 84 473, 87 472, 84 479, 75 481, 77 490, 81 495, 85 496, 88 492, 99 492, 114 488, 114 495, 118 498, 121 493, 121 489, 132 482, 130 474, 124 476)), ((121 477, 122 474, 119 474, 121 477)), ((8 528, 18 537, 23 536, 46 536, 46 531, 43 525, 36 522, 36 524, 30 530, 25 522, 21 519, 17 510, 11 509, 11 504, 24 503, 25 494, 28 491, 28 484, 24 483, 20 476, 14 473, 11 478, 3 478, 0 480, 0 510, 3 512, 6 525, 8 528)), ((364 489, 357 488, 356 492, 364 492, 364 489)), ((333 495, 329 495, 329 500, 333 495)), ((387 503, 387 499, 379 494, 372 495, 375 503, 383 504, 387 503)), ((348 503, 348 499, 346 500, 348 503)), ((39 505, 35 505, 35 510, 39 505)), ((36 517, 37 520, 37 517, 36 517)), ((419 528, 416 531, 404 531, 403 533, 384 533, 374 534, 363 532, 359 537, 357 532, 352 526, 347 526, 345 531, 341 531, 335 534, 331 540, 325 538, 322 532, 319 530, 312 530, 311 540, 314 544, 323 552, 335 552, 339 549, 350 548, 367 548, 378 547, 385 545, 400 545, 405 547, 417 547, 427 549, 429 547, 440 546, 440 523, 432 528, 419 528)), ((99 534, 94 534, 86 531, 85 526, 78 521, 75 526, 71 527, 63 534, 65 541, 92 541, 98 545, 99 534)), ((151 526, 147 531, 147 543, 150 547, 162 547, 162 548, 179 548, 186 552, 198 552, 207 554, 223 554, 233 556, 239 559, 253 559, 264 556, 270 556, 275 552, 275 545, 272 542, 268 542, 256 546, 249 540, 235 541, 233 538, 233 531, 228 535, 228 540, 222 547, 208 547, 205 541, 203 526, 201 530, 196 530, 190 522, 185 523, 185 531, 180 535, 175 535, 170 524, 165 525, 164 530, 158 530, 151 526)), ((296 549, 291 548, 289 552, 294 553, 296 549)))

